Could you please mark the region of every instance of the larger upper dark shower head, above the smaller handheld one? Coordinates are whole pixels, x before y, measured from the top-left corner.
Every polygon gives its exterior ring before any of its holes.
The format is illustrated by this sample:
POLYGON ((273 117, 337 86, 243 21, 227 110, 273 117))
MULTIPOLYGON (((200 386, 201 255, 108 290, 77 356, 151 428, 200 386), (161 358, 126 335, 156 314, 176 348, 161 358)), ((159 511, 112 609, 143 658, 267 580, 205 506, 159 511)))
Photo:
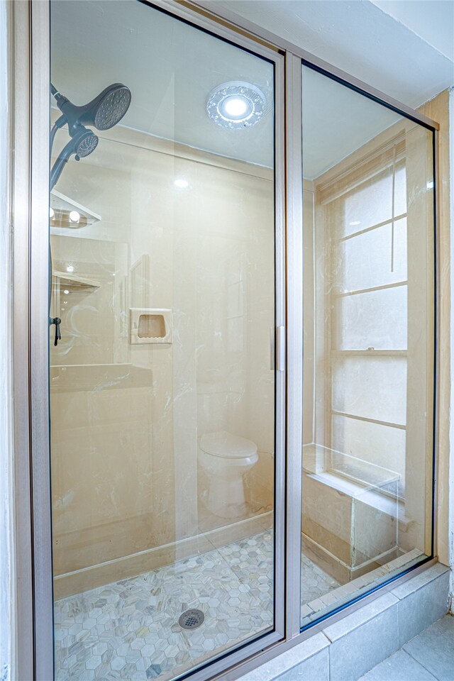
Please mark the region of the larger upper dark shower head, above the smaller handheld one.
POLYGON ((67 123, 72 137, 77 134, 81 125, 93 126, 97 130, 113 128, 121 121, 131 104, 131 90, 121 83, 109 85, 84 106, 72 104, 72 101, 57 92, 55 88, 52 88, 52 94, 65 117, 59 127, 67 123))

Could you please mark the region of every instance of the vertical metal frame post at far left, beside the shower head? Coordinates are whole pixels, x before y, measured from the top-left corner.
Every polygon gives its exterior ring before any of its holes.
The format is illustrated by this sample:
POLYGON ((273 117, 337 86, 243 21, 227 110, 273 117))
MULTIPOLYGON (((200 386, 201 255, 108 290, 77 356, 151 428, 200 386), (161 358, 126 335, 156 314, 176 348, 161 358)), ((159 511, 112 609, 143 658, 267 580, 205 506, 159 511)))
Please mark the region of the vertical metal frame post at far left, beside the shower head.
POLYGON ((53 676, 50 517, 49 4, 10 4, 14 45, 13 409, 18 677, 53 676))

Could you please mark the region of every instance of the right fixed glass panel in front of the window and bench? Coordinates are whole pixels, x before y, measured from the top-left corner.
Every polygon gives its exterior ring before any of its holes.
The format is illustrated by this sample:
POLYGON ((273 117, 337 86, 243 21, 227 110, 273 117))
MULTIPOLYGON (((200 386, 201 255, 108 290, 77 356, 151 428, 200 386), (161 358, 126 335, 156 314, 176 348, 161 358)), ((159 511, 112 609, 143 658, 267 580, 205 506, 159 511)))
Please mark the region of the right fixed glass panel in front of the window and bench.
POLYGON ((301 626, 432 553, 433 133, 302 68, 301 626))

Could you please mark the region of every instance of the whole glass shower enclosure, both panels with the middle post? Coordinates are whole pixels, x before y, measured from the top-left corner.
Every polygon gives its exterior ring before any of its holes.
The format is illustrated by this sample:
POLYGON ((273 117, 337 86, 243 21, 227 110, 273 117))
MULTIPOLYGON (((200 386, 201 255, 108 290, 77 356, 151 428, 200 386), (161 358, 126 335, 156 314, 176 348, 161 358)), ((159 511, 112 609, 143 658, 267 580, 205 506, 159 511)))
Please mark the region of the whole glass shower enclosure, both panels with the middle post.
POLYGON ((436 124, 178 3, 50 19, 54 677, 206 681, 433 559, 436 124))

